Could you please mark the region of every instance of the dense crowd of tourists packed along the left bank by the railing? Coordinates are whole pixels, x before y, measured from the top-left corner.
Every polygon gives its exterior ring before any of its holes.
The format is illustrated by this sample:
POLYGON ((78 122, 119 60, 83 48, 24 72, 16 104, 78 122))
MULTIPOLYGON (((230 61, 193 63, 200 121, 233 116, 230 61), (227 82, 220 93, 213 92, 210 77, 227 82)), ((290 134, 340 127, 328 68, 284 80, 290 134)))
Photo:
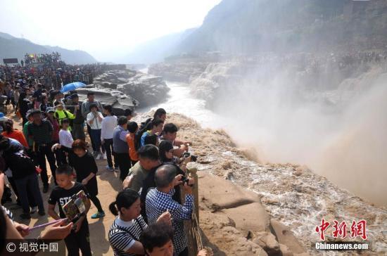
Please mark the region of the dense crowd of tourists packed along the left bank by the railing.
MULTIPOLYGON (((196 157, 189 154, 191 142, 178 139, 178 127, 166 122, 163 108, 137 123, 131 109, 115 116, 112 106, 102 105, 93 92, 81 102, 76 91, 55 91, 44 71, 1 69, 4 92, 13 95, 8 103, 23 125, 16 129, 14 119, 0 113, 1 205, 15 198, 23 209, 20 219, 48 214, 60 220, 39 240, 64 239, 68 255, 91 255, 89 237, 99 235, 89 233, 91 203, 96 207, 91 219, 105 217, 106 210, 117 216, 108 231, 115 255, 189 255, 184 221, 193 215, 195 180, 186 165, 196 157), (103 160, 106 167, 99 169, 97 162, 103 160), (123 189, 110 205, 99 200, 97 172, 117 172, 122 181, 123 189), (81 192, 83 207, 78 205, 79 214, 69 219, 66 205, 81 192), (42 193, 49 193, 47 208, 42 193)), ((12 212, 1 206, 0 252, 5 250, 4 238, 28 234, 29 227, 15 222, 12 212)), ((209 253, 201 250, 198 255, 209 253)))

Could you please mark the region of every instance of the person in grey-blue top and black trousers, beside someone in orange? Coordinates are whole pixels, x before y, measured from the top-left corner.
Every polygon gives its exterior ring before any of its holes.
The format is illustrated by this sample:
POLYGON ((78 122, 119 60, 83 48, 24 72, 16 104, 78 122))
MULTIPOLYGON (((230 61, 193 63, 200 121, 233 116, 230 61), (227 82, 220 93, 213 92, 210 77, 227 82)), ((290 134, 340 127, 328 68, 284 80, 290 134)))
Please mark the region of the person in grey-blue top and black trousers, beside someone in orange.
POLYGON ((127 118, 119 117, 118 125, 113 131, 113 151, 115 162, 120 168, 120 179, 123 181, 131 167, 129 158, 129 147, 126 141, 127 137, 127 118))

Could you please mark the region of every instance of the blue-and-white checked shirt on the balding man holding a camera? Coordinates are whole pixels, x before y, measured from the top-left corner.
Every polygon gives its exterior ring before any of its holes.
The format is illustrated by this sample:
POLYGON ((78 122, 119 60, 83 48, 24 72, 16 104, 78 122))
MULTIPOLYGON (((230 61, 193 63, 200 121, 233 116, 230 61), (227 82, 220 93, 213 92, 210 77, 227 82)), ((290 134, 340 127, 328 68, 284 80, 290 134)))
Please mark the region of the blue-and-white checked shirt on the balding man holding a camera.
POLYGON ((148 223, 155 223, 164 212, 169 211, 172 217, 172 226, 175 229, 173 235, 173 247, 175 255, 179 255, 188 245, 186 234, 184 233, 184 220, 191 219, 194 209, 194 196, 186 195, 186 203, 180 205, 172 199, 175 189, 169 193, 158 191, 157 188, 151 189, 146 195, 145 209, 148 223))

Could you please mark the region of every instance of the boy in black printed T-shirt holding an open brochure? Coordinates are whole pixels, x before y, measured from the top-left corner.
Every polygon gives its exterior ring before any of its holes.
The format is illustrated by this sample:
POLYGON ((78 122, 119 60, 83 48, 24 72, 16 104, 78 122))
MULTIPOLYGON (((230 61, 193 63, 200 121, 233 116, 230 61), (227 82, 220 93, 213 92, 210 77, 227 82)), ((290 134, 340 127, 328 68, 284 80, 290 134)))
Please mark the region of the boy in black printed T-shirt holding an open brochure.
MULTIPOLYGON (((72 181, 73 177, 72 168, 68 165, 62 165, 56 169, 56 181, 58 182, 58 186, 53 188, 49 197, 49 215, 53 217, 53 219, 63 219, 66 217, 62 207, 68 203, 73 195, 82 190, 88 195, 85 186, 79 182, 72 181), (59 206, 59 215, 55 212, 55 205, 57 203, 59 206)), ((89 211, 89 208, 90 200, 87 200, 84 214, 82 214, 77 222, 75 222, 75 228, 71 231, 70 235, 65 238, 69 256, 80 255, 80 250, 82 256, 91 256, 89 223, 87 222, 87 212, 89 211)))

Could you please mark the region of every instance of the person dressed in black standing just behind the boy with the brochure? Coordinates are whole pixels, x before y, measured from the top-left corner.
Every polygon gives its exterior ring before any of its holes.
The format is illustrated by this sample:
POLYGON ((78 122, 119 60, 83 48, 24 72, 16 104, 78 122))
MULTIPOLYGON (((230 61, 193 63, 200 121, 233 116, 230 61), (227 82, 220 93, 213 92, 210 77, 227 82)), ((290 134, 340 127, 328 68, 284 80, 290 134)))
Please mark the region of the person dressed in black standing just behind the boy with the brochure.
POLYGON ((98 212, 91 215, 91 219, 98 219, 105 216, 102 210, 101 202, 96 197, 98 195, 98 185, 96 180, 96 173, 98 167, 96 160, 89 151, 87 151, 86 143, 77 139, 72 143, 72 153, 69 154, 68 161, 70 166, 75 169, 77 174, 77 181, 86 186, 89 192, 90 200, 96 206, 98 212))

